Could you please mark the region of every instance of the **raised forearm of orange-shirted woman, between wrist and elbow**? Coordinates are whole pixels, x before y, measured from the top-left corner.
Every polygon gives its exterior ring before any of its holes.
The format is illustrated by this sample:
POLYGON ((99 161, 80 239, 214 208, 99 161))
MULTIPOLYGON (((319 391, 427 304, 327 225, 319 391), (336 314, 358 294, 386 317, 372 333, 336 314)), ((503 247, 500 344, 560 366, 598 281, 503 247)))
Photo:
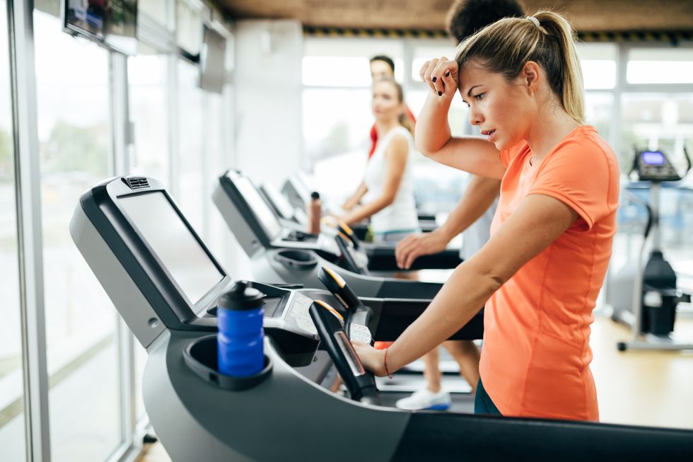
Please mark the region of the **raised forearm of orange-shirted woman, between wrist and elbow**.
POLYGON ((430 156, 450 140, 448 111, 452 100, 429 93, 416 125, 417 150, 430 156))

